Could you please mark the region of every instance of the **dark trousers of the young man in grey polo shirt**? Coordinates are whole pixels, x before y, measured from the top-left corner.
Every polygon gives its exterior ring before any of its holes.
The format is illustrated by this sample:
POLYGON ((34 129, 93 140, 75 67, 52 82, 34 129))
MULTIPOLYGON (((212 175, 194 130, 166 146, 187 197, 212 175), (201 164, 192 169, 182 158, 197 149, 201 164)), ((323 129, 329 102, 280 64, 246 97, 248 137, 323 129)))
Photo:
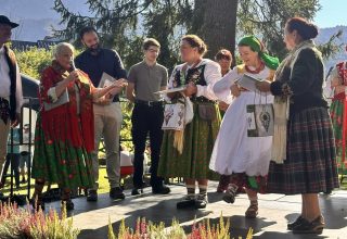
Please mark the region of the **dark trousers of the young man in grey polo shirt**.
POLYGON ((163 186, 163 178, 157 176, 158 162, 160 158, 160 147, 163 141, 163 120, 164 110, 162 104, 134 104, 131 116, 131 134, 132 143, 134 147, 134 187, 142 187, 143 185, 143 153, 145 150, 147 134, 150 134, 151 143, 151 186, 153 188, 163 186))

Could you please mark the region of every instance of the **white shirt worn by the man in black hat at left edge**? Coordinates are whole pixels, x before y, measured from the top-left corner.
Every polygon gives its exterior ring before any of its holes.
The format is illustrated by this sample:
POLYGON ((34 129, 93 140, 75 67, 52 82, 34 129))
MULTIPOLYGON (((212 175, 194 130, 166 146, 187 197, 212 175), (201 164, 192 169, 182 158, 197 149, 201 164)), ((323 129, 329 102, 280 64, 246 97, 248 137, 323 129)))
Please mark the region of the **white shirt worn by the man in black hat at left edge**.
MULTIPOLYGON (((10 101, 10 67, 5 59, 4 48, 3 46, 0 48, 0 97, 8 99, 10 101)), ((16 90, 15 90, 15 99, 16 99, 16 112, 21 113, 21 108, 23 104, 23 91, 22 91, 22 79, 20 74, 20 67, 16 66, 16 90)))

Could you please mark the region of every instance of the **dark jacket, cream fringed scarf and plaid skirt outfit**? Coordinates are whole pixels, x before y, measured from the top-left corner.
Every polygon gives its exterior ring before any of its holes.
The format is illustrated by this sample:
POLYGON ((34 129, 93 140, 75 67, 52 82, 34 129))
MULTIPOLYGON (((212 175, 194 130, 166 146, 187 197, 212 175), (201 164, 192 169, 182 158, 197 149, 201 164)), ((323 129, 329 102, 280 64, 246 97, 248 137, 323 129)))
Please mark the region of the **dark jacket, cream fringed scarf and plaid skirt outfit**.
POLYGON ((338 187, 335 139, 323 80, 322 56, 312 40, 296 46, 279 66, 271 93, 279 109, 273 149, 280 152, 274 152, 270 163, 269 192, 317 193, 338 187))

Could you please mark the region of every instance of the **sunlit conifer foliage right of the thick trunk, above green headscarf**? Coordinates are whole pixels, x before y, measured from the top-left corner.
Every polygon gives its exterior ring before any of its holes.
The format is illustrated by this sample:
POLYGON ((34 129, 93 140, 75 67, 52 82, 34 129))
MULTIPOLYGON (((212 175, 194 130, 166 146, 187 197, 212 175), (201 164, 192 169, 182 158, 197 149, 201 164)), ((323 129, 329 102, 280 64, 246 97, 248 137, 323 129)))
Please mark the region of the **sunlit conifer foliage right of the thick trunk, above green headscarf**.
POLYGON ((293 16, 311 21, 320 9, 319 0, 240 0, 239 32, 259 36, 267 49, 282 59, 286 53, 285 22, 293 16))

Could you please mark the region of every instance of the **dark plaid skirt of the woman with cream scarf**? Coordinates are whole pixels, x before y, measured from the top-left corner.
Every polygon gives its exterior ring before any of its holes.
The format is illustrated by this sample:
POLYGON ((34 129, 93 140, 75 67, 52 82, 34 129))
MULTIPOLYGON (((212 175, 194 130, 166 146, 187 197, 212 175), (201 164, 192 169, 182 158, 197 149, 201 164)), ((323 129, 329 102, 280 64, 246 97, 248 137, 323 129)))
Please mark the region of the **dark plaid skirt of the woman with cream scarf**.
POLYGON ((307 109, 291 117, 286 160, 270 163, 268 192, 303 194, 338 188, 334 140, 327 109, 307 109))

